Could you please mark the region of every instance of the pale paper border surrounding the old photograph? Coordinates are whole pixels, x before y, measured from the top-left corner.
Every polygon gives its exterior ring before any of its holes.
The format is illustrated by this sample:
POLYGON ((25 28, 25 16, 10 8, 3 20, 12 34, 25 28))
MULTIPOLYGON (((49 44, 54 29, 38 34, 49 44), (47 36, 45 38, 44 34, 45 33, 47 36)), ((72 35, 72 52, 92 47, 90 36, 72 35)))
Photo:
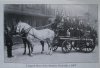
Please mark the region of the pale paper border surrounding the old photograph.
MULTIPOLYGON (((0 0, 0 40, 1 40, 0 41, 0 68, 28 68, 26 64, 4 63, 3 4, 98 4, 98 21, 100 22, 100 1, 99 0, 0 0)), ((98 26, 100 26, 99 22, 98 22, 98 26)), ((98 30, 99 29, 100 28, 98 28, 98 30)), ((64 68, 99 68, 100 62, 99 63, 67 63, 67 64, 68 65, 76 64, 76 66, 64 67, 64 68)), ((34 66, 29 68, 34 68, 34 66)), ((44 66, 41 67, 39 66, 39 68, 44 68, 44 66)), ((58 66, 58 68, 62 68, 62 67, 58 66)))

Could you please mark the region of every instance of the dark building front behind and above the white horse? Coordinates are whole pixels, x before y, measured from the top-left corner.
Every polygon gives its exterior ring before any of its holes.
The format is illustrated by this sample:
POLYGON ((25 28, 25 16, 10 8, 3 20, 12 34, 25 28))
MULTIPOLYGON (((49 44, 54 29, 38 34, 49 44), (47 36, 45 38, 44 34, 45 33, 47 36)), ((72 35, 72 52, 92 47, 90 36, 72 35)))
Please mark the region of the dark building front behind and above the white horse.
POLYGON ((4 24, 12 26, 19 21, 26 22, 33 27, 44 26, 51 17, 46 5, 38 4, 6 4, 4 6, 4 24))

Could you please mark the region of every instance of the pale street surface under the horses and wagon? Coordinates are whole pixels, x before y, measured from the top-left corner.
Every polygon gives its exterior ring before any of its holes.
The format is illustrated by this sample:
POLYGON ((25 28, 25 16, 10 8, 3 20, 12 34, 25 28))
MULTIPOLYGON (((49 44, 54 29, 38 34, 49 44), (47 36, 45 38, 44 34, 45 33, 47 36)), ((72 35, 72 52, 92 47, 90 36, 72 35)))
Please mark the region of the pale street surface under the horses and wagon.
POLYGON ((58 47, 57 51, 53 52, 52 55, 47 55, 48 46, 45 44, 45 52, 41 54, 42 46, 36 44, 34 47, 34 53, 32 56, 27 54, 23 55, 24 48, 23 44, 17 44, 13 46, 13 58, 7 58, 6 47, 4 51, 4 62, 5 63, 25 63, 25 64, 64 64, 67 62, 82 62, 82 63, 93 63, 98 62, 98 46, 95 47, 91 53, 81 53, 72 50, 70 53, 62 53, 61 47, 58 47), (16 46, 16 47, 15 47, 16 46))

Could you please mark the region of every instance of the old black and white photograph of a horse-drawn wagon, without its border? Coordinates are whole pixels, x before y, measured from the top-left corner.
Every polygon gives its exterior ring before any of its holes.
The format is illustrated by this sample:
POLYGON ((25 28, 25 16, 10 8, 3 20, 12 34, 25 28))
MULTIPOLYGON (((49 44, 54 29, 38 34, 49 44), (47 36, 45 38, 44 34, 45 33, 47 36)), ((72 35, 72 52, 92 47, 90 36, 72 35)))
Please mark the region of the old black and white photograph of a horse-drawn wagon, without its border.
POLYGON ((97 4, 4 4, 4 63, 98 63, 97 4))

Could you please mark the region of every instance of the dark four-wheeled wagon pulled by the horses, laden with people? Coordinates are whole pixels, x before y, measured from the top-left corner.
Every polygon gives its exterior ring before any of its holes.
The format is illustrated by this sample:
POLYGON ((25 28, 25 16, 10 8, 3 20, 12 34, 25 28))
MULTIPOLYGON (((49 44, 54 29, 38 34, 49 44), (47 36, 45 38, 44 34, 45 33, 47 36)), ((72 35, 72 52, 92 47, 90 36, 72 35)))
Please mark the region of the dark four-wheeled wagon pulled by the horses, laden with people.
POLYGON ((89 37, 90 32, 85 31, 83 35, 81 34, 82 31, 81 33, 78 33, 78 36, 75 37, 71 36, 72 32, 70 32, 70 30, 65 31, 64 29, 57 29, 53 51, 56 51, 58 47, 61 47, 63 53, 69 53, 72 49, 84 53, 92 52, 95 49, 95 43, 94 39, 89 37), (80 34, 82 36, 80 36, 80 34))

